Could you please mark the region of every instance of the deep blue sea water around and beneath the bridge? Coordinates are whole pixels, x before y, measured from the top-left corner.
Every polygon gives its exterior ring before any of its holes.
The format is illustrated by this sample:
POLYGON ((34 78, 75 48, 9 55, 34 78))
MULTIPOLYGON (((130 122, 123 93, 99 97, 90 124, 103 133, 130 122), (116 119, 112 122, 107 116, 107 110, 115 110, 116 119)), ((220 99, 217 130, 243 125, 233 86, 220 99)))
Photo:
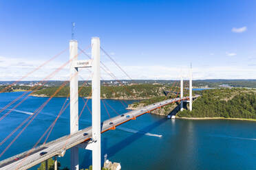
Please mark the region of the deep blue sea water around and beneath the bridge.
MULTIPOLYGON (((0 108, 16 99, 23 92, 1 93, 0 108)), ((29 97, 5 119, 0 121, 0 141, 17 125, 39 108, 47 97, 29 97)), ((32 121, 17 141, 0 160, 30 149, 54 121, 65 97, 54 97, 32 121)), ((118 100, 106 100, 118 113, 127 112, 118 100)), ((126 101, 128 104, 133 101, 126 101)), ((79 110, 83 108, 79 99, 79 110)), ((88 101, 91 108, 91 100, 88 101)), ((127 104, 126 104, 127 105, 127 104)), ((14 106, 14 105, 12 105, 14 106)), ((107 106, 108 107, 108 106, 107 106)), ((12 108, 12 107, 10 107, 12 108)), ((109 114, 116 113, 108 107, 109 114)), ((109 116, 101 106, 102 119, 109 116)), ((8 110, 1 112, 3 115, 8 110)), ((79 121, 80 129, 91 125, 91 114, 84 110, 79 121)), ((69 134, 69 108, 58 119, 48 141, 69 134)), ((19 132, 15 133, 17 135, 19 132)), ((12 141, 10 138, 0 146, 0 152, 12 141)), ((42 141, 43 142, 43 141, 42 141)), ((120 125, 102 135, 102 154, 122 169, 256 169, 256 123, 231 120, 181 120, 164 119, 145 114, 136 120, 120 125)), ((70 166, 70 152, 58 158, 62 167, 70 166)), ((92 164, 92 152, 80 149, 81 168, 92 164)), ((32 169, 36 169, 33 167, 32 169)))

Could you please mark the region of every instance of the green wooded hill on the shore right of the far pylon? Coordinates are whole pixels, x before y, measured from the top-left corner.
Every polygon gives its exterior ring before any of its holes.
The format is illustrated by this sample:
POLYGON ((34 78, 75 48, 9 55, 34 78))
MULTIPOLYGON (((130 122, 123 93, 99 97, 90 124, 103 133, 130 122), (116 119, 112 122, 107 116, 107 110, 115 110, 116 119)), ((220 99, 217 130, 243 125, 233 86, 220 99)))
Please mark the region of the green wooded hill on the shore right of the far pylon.
POLYGON ((217 88, 202 90, 193 102, 193 110, 178 112, 187 118, 256 119, 256 90, 247 88, 217 88))

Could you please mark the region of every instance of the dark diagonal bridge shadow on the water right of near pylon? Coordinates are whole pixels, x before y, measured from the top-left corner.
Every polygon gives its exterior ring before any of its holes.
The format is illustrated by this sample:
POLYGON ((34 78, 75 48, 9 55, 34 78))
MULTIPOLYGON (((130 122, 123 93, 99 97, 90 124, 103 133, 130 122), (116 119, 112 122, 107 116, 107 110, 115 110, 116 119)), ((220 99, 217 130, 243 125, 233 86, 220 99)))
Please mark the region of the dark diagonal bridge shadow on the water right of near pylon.
POLYGON ((148 125, 147 127, 144 127, 140 132, 136 132, 135 134, 132 134, 131 136, 123 139, 119 143, 116 143, 116 145, 113 145, 109 148, 107 148, 107 140, 105 139, 103 141, 103 153, 107 153, 108 158, 111 156, 114 156, 118 151, 124 149, 125 147, 131 145, 131 143, 134 143, 139 138, 144 136, 147 132, 150 132, 151 130, 155 129, 162 123, 167 121, 167 119, 160 119, 159 121, 156 121, 154 123, 151 123, 151 125, 148 125))

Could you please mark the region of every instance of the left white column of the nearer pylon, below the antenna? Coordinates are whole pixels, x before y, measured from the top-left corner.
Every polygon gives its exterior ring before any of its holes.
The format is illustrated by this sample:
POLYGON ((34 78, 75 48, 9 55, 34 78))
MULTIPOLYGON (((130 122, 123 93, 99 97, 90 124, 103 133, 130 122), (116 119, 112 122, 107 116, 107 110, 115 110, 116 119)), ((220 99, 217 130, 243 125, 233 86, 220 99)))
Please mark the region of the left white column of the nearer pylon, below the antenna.
MULTIPOLYGON (((78 132, 78 68, 72 66, 78 58, 78 43, 70 40, 70 134, 78 132)), ((79 170, 78 148, 70 149, 70 169, 79 170)))

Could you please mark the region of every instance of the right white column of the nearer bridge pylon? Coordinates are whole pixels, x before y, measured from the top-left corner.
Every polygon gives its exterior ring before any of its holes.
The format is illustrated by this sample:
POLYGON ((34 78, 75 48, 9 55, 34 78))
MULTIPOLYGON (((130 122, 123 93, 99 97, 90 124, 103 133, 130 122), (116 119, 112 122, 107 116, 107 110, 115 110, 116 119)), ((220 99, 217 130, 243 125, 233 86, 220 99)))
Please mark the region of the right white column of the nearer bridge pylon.
POLYGON ((92 169, 101 169, 100 149, 100 38, 92 38, 92 169))

